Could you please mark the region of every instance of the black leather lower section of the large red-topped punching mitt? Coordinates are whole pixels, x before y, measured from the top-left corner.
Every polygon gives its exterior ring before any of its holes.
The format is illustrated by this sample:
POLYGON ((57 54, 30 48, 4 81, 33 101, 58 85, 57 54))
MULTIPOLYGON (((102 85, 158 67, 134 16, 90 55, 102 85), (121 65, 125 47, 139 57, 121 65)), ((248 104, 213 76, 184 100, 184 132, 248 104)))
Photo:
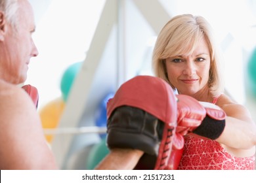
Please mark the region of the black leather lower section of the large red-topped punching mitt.
POLYGON ((108 148, 133 148, 158 156, 164 124, 139 108, 122 106, 107 123, 108 148))

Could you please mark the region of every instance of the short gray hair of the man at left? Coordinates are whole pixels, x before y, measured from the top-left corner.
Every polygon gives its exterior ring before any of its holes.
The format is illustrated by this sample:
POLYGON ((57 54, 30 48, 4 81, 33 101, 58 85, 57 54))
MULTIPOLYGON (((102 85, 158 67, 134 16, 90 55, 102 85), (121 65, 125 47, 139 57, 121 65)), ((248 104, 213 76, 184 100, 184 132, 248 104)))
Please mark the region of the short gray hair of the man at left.
POLYGON ((0 10, 5 12, 5 18, 12 27, 16 27, 18 23, 18 16, 16 16, 18 7, 18 0, 0 0, 0 10))

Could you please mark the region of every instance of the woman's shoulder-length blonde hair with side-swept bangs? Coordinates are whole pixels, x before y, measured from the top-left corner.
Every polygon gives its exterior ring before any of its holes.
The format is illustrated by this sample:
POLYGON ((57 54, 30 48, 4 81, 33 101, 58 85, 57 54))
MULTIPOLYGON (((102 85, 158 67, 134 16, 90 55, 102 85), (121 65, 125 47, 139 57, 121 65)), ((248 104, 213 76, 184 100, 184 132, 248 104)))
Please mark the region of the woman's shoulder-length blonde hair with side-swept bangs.
MULTIPOLYGON (((212 95, 216 97, 224 91, 219 51, 213 41, 211 26, 202 16, 182 14, 173 17, 165 24, 154 47, 152 67, 156 76, 171 84, 165 69, 165 59, 184 53, 191 54, 202 38, 209 46, 211 58, 208 87, 212 95)), ((172 84, 171 86, 173 87, 172 84)))

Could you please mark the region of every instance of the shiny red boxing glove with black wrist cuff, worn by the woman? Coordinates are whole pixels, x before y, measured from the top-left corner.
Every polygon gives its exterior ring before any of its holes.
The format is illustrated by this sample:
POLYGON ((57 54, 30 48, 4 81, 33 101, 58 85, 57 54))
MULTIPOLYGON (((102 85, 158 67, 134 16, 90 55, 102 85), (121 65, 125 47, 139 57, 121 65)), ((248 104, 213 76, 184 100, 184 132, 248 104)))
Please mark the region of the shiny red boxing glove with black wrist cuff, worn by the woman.
POLYGON ((186 135, 195 133, 208 139, 217 139, 223 133, 226 113, 217 105, 199 102, 188 95, 177 95, 177 130, 186 135))

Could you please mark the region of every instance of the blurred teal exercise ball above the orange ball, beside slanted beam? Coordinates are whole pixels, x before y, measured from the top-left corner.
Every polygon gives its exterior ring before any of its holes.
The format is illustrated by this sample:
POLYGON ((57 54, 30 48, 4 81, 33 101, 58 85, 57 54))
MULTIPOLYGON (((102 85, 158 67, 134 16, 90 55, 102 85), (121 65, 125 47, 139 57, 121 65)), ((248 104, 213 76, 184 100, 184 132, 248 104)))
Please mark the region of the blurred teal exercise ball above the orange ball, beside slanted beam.
POLYGON ((63 73, 61 81, 60 81, 60 90, 62 92, 62 97, 66 102, 68 99, 68 95, 70 93, 70 89, 72 88, 72 84, 81 69, 82 62, 76 62, 70 65, 63 73))

